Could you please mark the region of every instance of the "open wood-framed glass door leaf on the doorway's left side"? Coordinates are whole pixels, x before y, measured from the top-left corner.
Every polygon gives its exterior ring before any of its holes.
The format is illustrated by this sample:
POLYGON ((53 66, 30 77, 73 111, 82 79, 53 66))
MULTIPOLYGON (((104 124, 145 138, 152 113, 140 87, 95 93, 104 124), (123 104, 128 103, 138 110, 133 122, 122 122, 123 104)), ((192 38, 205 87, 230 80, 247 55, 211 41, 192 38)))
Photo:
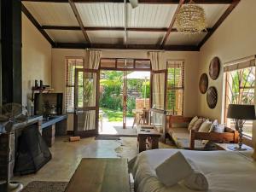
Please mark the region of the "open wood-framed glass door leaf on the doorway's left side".
POLYGON ((98 79, 94 69, 76 69, 74 135, 90 137, 98 131, 98 79))

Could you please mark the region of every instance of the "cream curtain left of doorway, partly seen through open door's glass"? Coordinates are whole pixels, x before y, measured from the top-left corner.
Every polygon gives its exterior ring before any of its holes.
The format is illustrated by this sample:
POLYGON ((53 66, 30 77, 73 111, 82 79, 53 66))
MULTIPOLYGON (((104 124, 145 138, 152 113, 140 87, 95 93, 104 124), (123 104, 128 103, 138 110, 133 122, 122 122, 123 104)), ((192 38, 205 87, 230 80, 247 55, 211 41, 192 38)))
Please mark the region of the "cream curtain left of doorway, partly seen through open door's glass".
MULTIPOLYGON (((98 69, 101 61, 101 50, 85 50, 84 68, 98 69)), ((96 73, 86 73, 84 75, 84 96, 86 95, 87 102, 84 107, 96 106, 96 73)), ((96 110, 84 112, 84 131, 96 129, 96 110)))

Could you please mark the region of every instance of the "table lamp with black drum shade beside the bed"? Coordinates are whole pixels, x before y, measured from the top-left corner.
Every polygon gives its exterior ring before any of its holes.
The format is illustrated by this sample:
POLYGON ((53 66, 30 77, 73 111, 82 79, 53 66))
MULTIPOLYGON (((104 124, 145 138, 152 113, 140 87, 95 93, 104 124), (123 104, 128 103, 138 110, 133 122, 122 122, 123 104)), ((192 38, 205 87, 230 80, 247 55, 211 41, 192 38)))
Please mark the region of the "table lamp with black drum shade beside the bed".
POLYGON ((236 131, 239 132, 238 147, 231 147, 231 150, 247 150, 242 148, 242 127, 246 120, 255 119, 254 105, 230 104, 228 108, 227 118, 234 119, 236 131))

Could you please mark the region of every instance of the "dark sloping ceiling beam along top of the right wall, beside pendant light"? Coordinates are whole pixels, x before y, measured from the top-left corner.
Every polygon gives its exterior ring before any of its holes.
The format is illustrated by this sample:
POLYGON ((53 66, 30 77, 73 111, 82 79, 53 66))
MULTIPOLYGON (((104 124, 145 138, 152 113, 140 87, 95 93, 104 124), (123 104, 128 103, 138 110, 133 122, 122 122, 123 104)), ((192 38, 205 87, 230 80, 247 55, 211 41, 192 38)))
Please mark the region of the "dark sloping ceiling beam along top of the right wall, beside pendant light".
POLYGON ((233 11, 233 9, 236 8, 236 5, 240 2, 240 0, 233 0, 233 3, 230 4, 229 8, 226 9, 223 15, 218 19, 218 21, 215 23, 215 25, 212 27, 212 30, 207 33, 206 37, 202 39, 201 43, 198 44, 198 47, 201 48, 209 38, 211 38, 212 34, 218 29, 218 26, 220 26, 223 21, 230 15, 230 13, 233 11))

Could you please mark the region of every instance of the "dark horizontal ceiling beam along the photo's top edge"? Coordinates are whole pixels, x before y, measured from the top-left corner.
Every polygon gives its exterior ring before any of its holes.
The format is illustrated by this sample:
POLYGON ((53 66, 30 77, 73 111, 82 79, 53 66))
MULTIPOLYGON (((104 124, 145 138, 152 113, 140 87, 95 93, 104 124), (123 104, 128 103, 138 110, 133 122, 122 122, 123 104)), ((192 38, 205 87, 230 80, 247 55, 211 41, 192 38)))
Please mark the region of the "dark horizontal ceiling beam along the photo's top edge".
MULTIPOLYGON (((68 3, 68 0, 21 0, 23 2, 68 3)), ((73 0, 75 3, 124 3, 123 0, 73 0)), ((139 0, 143 4, 178 4, 179 0, 139 0)), ((188 3, 189 0, 185 0, 188 3)), ((194 0, 198 4, 230 4, 233 0, 194 0)))

